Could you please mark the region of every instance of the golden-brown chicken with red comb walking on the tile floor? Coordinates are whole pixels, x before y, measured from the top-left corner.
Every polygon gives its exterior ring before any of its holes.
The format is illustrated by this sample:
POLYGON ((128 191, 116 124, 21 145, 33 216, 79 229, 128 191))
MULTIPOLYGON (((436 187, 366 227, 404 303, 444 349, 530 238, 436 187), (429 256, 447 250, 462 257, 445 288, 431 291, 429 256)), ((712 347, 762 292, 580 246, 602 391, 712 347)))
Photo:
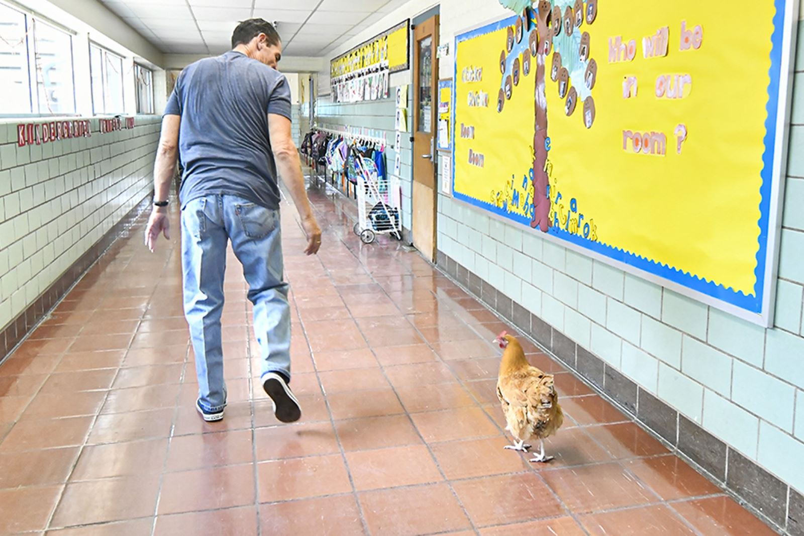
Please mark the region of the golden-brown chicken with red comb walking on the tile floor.
POLYGON ((544 374, 527 362, 522 346, 515 337, 503 331, 494 342, 504 349, 497 380, 497 397, 503 404, 508 423, 506 430, 517 439, 515 444, 506 448, 527 452, 531 445, 525 444, 525 441, 536 437, 539 438, 539 454, 531 461, 548 462, 553 458, 544 455, 544 440, 555 434, 564 423, 553 376, 544 374))

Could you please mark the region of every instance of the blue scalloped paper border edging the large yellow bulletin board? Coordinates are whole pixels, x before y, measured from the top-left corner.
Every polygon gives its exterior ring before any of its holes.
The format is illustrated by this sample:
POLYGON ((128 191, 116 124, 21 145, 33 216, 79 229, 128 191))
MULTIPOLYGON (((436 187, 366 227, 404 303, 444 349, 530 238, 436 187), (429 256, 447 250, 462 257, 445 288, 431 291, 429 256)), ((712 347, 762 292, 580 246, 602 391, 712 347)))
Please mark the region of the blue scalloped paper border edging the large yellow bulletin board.
MULTIPOLYGON (((764 164, 761 171, 762 185, 760 187, 760 219, 757 224, 760 228, 760 234, 757 238, 759 249, 757 250, 757 268, 754 273, 757 276, 757 281, 754 284, 754 294, 747 295, 741 291, 735 291, 733 288, 726 288, 723 284, 716 284, 712 281, 704 280, 699 276, 692 275, 689 272, 683 272, 678 268, 672 268, 667 264, 661 264, 654 260, 649 260, 646 257, 635 255, 634 253, 626 252, 619 248, 612 246, 590 242, 581 236, 572 235, 568 231, 556 229, 551 227, 549 233, 560 239, 573 243, 581 248, 588 249, 591 252, 596 252, 609 259, 617 260, 621 263, 628 264, 634 268, 638 268, 644 272, 650 273, 654 276, 661 277, 662 279, 671 281, 675 284, 682 285, 683 287, 690 288, 691 290, 713 297, 716 300, 723 301, 729 305, 734 305, 740 309, 745 309, 750 313, 762 313, 762 303, 765 293, 765 276, 767 276, 768 266, 768 235, 769 235, 769 221, 770 221, 770 202, 771 192, 773 191, 773 164, 776 161, 776 129, 778 117, 778 100, 781 89, 781 55, 782 44, 785 36, 785 14, 786 2, 798 0, 774 0, 776 6, 776 14, 773 15, 773 35, 771 35, 771 52, 770 52, 770 68, 768 84, 768 102, 765 104, 767 117, 765 118, 765 153, 762 155, 762 162, 764 164)), ((514 24, 517 16, 503 18, 496 23, 488 24, 484 27, 479 27, 472 31, 467 31, 461 35, 455 36, 455 56, 457 59, 457 45, 466 39, 472 39, 478 35, 497 31, 503 27, 514 24)), ((457 85, 457 61, 454 66, 454 78, 457 85)), ((521 223, 530 227, 530 221, 519 215, 508 214, 502 208, 494 207, 491 203, 485 203, 478 199, 470 198, 466 194, 461 194, 455 190, 455 113, 454 110, 457 102, 457 92, 453 90, 453 114, 452 114, 452 137, 453 137, 453 197, 461 200, 464 203, 469 203, 475 207, 482 208, 495 215, 502 216, 505 219, 521 223)), ((534 231, 535 232, 535 231, 534 231)))

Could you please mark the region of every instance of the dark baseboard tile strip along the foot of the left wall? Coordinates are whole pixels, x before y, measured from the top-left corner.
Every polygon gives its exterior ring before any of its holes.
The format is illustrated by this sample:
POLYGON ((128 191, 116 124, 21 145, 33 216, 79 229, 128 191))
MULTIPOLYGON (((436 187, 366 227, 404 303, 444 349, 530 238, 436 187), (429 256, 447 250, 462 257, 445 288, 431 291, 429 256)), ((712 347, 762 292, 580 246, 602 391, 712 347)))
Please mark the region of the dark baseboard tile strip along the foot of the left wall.
POLYGON ((70 266, 64 273, 55 280, 50 287, 47 288, 38 298, 23 311, 18 317, 10 321, 2 331, 0 331, 0 362, 5 359, 8 354, 14 350, 14 347, 19 344, 34 329, 39 321, 50 312, 54 305, 61 300, 68 292, 72 285, 84 275, 96 260, 100 258, 103 253, 117 240, 117 237, 124 233, 133 223, 135 219, 150 205, 150 198, 153 193, 146 195, 142 202, 133 207, 131 211, 117 222, 109 231, 106 232, 96 243, 84 252, 75 263, 70 266))

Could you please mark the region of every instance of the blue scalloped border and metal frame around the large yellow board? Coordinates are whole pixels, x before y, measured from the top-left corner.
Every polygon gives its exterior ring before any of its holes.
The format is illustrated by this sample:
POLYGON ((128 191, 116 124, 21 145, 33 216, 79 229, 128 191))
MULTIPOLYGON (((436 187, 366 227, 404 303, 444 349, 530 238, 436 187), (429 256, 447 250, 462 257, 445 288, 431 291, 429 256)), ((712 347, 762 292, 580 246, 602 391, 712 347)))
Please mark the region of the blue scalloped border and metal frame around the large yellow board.
MULTIPOLYGON (((794 80, 794 59, 796 53, 798 0, 773 0, 776 14, 773 18, 772 49, 770 53, 770 83, 768 86, 769 100, 767 103, 768 118, 765 121, 765 153, 762 161, 765 165, 761 173, 761 220, 760 220, 760 248, 757 253, 757 281, 755 291, 757 297, 752 303, 745 299, 743 293, 737 293, 731 288, 708 282, 697 276, 680 272, 675 268, 661 265, 654 261, 632 253, 622 252, 616 248, 601 243, 591 243, 589 240, 577 236, 553 235, 540 233, 539 235, 552 243, 559 244, 574 252, 588 256, 594 260, 619 268, 624 272, 638 276, 643 280, 669 288, 684 297, 699 301, 704 305, 712 306, 726 313, 732 314, 745 321, 763 327, 773 326, 775 297, 777 287, 777 272, 779 261, 779 239, 781 235, 781 211, 784 201, 786 180, 786 163, 789 152, 789 131, 792 86, 794 80)), ((466 39, 473 39, 477 35, 510 26, 517 16, 495 19, 492 22, 480 23, 456 33, 454 38, 453 76, 457 80, 459 43, 466 39), (492 28, 494 27, 494 28, 492 28)), ((453 105, 451 109, 451 137, 452 137, 452 197, 458 202, 482 211, 491 218, 507 224, 515 224, 503 211, 495 210, 497 207, 490 203, 479 202, 475 198, 461 194, 455 188, 455 127, 457 122, 457 91, 453 88, 453 105)), ((521 224, 521 223, 520 223, 521 224)), ((525 226, 523 226, 525 227, 525 226)))

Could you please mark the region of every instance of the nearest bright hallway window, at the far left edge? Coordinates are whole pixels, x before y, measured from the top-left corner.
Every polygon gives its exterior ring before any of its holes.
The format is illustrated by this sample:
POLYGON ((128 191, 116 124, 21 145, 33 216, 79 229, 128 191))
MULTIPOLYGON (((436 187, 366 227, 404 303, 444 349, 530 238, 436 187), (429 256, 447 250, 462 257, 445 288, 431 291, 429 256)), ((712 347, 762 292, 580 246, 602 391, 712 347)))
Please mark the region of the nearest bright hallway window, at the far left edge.
POLYGON ((72 35, 0 3, 0 114, 76 113, 72 35))

